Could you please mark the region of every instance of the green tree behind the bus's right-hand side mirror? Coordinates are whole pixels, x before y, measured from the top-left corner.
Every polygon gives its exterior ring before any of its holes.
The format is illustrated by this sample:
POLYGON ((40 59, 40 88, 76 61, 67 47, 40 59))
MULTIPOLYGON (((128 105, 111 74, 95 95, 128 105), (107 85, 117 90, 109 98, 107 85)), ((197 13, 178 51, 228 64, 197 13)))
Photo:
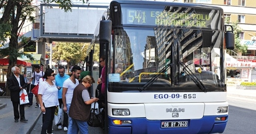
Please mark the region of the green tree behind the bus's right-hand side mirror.
MULTIPOLYGON (((233 27, 235 36, 235 49, 233 51, 236 53, 245 54, 247 52, 248 46, 241 44, 240 33, 242 32, 242 29, 239 27, 238 21, 230 23, 229 18, 226 18, 225 23, 233 27)), ((231 54, 231 51, 227 50, 227 53, 231 54)))

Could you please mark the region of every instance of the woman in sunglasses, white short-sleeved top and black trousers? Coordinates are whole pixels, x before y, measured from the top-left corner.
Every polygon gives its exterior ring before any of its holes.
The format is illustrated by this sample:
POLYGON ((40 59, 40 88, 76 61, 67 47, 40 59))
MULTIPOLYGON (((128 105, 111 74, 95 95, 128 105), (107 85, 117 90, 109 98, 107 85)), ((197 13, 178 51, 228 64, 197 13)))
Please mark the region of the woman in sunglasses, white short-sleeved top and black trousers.
POLYGON ((46 80, 40 83, 38 88, 38 100, 43 113, 43 125, 41 134, 52 133, 52 121, 56 106, 59 105, 58 89, 54 83, 55 73, 52 69, 47 69, 44 73, 46 80))

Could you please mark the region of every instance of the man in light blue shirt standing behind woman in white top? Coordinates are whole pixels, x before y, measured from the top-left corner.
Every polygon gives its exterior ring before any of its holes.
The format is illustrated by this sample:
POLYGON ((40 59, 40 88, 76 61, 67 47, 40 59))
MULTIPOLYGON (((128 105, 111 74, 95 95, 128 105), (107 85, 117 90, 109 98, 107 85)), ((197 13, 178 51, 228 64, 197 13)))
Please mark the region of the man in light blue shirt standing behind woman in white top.
MULTIPOLYGON (((68 79, 69 77, 70 77, 69 75, 65 74, 65 68, 63 66, 59 66, 58 67, 58 75, 56 75, 56 77, 55 77, 55 83, 56 83, 57 89, 59 90, 58 91, 58 100, 59 100, 60 108, 62 108, 62 106, 61 106, 62 105, 62 85, 63 85, 64 81, 66 79, 68 79)), ((62 124, 63 130, 68 131, 68 128, 67 128, 68 114, 66 112, 64 112, 63 116, 64 116, 63 124, 62 124)), ((58 129, 62 129, 61 122, 60 122, 60 124, 57 124, 57 126, 58 126, 58 129)))

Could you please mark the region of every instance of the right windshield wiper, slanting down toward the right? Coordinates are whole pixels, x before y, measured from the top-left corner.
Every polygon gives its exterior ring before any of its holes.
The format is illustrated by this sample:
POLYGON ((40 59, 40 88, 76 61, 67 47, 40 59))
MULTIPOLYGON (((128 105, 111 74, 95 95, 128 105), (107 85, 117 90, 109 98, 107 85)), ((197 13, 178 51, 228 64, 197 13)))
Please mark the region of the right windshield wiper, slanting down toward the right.
POLYGON ((200 81, 198 77, 196 77, 196 75, 188 68, 186 64, 184 64, 182 61, 179 61, 179 63, 186 70, 186 74, 189 75, 192 81, 194 81, 194 83, 197 83, 198 87, 200 87, 200 89, 206 93, 207 87, 204 85, 204 83, 202 83, 202 81, 200 81))

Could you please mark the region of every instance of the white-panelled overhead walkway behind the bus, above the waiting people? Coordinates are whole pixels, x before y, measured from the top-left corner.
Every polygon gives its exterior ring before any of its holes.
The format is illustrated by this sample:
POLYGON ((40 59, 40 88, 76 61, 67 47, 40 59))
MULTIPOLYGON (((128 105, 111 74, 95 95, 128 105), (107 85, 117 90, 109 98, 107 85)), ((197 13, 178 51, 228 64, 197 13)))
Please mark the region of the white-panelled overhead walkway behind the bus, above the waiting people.
POLYGON ((64 12, 58 4, 40 5, 40 28, 31 39, 38 41, 90 42, 107 6, 72 5, 64 12))

